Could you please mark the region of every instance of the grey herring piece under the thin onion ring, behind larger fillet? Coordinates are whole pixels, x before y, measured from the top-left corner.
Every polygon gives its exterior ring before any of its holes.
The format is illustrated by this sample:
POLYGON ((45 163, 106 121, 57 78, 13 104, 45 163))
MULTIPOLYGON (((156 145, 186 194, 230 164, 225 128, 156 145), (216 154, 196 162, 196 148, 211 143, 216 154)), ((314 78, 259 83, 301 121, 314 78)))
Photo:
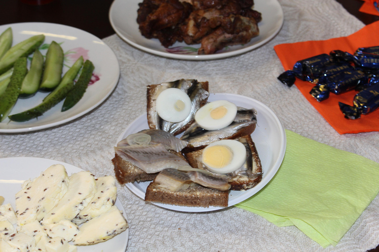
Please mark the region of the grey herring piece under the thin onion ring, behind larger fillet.
MULTIPOLYGON (((144 133, 148 134, 152 137, 152 140, 150 144, 163 144, 163 146, 166 148, 166 150, 173 150, 176 152, 180 152, 185 148, 188 144, 187 141, 180 140, 179 138, 175 137, 173 134, 166 132, 161 129, 144 129, 137 133, 144 133)), ((130 146, 126 138, 122 139, 117 143, 117 147, 122 146, 130 146)))

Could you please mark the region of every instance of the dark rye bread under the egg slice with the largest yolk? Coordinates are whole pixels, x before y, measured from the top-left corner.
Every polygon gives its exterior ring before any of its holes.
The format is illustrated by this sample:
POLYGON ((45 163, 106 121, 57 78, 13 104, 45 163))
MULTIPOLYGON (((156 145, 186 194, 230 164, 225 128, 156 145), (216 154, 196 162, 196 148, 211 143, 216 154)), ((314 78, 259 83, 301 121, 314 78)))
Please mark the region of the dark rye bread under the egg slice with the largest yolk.
MULTIPOLYGON (((263 175, 263 169, 261 164, 261 159, 258 156, 257 148, 251 139, 250 135, 245 135, 240 138, 244 138, 244 140, 249 145, 249 148, 251 150, 252 154, 252 174, 251 176, 245 176, 245 175, 237 175, 234 173, 231 173, 231 179, 229 180, 230 184, 230 190, 247 190, 250 188, 255 187, 259 182, 262 180, 263 175)), ((236 138, 236 140, 239 140, 240 138, 236 138)), ((201 162, 201 157, 203 154, 202 149, 196 149, 192 152, 185 152, 184 156, 187 158, 189 165, 193 168, 199 168, 199 169, 206 169, 204 164, 201 162)))

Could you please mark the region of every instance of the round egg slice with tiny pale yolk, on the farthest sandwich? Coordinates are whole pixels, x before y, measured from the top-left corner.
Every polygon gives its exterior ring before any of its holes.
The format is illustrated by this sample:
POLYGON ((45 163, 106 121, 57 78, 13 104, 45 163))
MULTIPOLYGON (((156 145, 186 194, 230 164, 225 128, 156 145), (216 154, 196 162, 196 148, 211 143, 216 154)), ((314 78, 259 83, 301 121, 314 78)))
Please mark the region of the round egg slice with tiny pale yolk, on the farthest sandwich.
POLYGON ((191 113, 191 99, 181 89, 166 89, 156 98, 156 112, 167 122, 182 122, 191 113))

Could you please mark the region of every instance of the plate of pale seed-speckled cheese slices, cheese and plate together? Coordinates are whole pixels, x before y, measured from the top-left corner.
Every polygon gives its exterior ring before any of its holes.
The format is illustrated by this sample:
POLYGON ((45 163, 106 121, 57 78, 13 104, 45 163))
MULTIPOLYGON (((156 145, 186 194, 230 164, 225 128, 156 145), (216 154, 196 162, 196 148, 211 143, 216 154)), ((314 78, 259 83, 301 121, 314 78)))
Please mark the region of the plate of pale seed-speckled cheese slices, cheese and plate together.
POLYGON ((125 252, 129 226, 113 176, 44 158, 0 158, 0 173, 1 252, 125 252))

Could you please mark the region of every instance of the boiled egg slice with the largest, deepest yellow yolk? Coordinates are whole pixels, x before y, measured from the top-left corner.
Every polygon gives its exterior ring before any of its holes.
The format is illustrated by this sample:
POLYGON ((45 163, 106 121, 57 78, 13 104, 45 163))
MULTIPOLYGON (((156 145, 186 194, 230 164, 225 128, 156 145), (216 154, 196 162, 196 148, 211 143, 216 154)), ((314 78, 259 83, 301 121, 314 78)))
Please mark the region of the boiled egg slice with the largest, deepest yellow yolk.
POLYGON ((204 148, 201 161, 211 172, 230 173, 245 163, 246 148, 237 140, 220 140, 204 148))

